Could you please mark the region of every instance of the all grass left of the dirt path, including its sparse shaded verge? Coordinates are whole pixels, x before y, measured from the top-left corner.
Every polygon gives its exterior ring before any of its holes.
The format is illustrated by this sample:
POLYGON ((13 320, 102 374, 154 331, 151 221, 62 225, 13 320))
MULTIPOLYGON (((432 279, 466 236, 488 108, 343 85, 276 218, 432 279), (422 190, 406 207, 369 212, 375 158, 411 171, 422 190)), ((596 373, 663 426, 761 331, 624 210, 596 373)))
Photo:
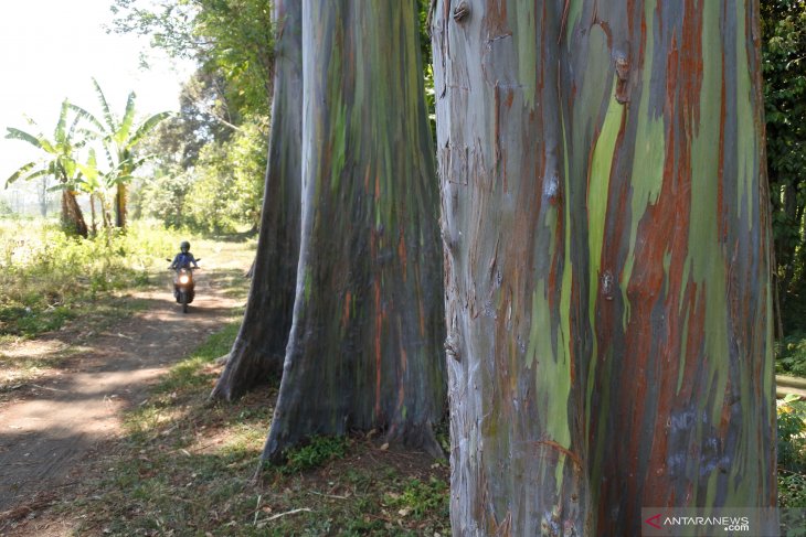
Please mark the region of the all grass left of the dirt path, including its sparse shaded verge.
POLYGON ((211 287, 245 298, 243 267, 255 239, 229 241, 132 223, 125 234, 77 239, 46 221, 0 219, 0 402, 42 372, 59 367, 88 335, 144 308, 131 292, 169 289, 166 257, 194 245, 211 287))

